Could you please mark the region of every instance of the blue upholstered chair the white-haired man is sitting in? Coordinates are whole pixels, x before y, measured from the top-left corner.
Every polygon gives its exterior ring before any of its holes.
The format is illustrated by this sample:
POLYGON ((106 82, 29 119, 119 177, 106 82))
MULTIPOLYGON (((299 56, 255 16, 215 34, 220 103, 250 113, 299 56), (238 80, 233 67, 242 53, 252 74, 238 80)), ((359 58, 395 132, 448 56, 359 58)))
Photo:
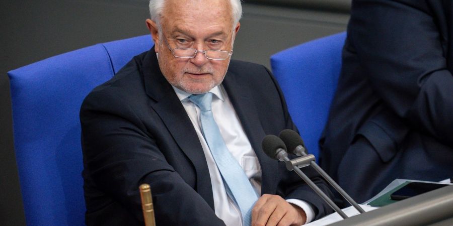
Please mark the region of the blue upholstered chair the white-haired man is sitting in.
POLYGON ((14 147, 28 225, 84 225, 79 110, 85 96, 133 56, 149 35, 54 56, 8 72, 14 147))

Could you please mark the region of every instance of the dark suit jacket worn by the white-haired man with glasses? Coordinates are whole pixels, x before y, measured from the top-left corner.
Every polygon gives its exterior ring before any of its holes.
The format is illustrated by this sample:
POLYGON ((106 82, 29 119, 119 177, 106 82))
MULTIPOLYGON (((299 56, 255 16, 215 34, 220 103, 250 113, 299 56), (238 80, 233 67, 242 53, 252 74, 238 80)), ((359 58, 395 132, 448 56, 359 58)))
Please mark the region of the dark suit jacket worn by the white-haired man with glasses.
MULTIPOLYGON (((269 71, 232 60, 223 81, 262 167, 262 193, 332 210, 282 163, 267 157, 267 134, 296 129, 269 71)), ((157 225, 221 225, 205 156, 181 101, 162 75, 154 48, 95 88, 81 109, 86 222, 142 224, 138 186, 152 188, 157 225)), ((323 180, 306 173, 326 192, 323 180)))

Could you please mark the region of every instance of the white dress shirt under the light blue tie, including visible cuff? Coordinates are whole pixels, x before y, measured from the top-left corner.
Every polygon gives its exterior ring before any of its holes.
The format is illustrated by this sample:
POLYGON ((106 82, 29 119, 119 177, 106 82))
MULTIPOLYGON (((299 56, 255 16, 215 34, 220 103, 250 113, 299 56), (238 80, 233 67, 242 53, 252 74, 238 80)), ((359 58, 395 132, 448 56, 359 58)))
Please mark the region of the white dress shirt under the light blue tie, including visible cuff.
MULTIPOLYGON (((200 139, 209 169, 212 194, 214 196, 215 214, 222 219, 226 225, 242 225, 241 211, 229 195, 226 194, 220 172, 215 164, 209 147, 204 140, 199 120, 200 109, 187 99, 187 97, 192 95, 191 93, 182 91, 174 86, 173 89, 181 100, 184 109, 187 111, 187 115, 195 128, 198 139, 200 139)), ((244 132, 241 122, 236 115, 233 104, 221 85, 212 88, 209 92, 214 94, 212 95, 211 109, 223 141, 233 157, 238 160, 259 197, 261 196, 261 166, 255 151, 244 132)), ((307 223, 313 219, 314 211, 307 202, 298 199, 288 199, 287 201, 304 209, 307 214, 307 223)))

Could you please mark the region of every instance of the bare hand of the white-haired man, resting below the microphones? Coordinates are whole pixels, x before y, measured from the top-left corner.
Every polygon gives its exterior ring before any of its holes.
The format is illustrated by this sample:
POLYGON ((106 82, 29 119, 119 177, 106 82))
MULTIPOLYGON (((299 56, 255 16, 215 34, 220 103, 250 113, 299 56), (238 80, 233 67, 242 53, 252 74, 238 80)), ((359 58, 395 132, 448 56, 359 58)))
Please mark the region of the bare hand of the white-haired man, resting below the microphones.
POLYGON ((307 221, 305 211, 278 195, 264 194, 252 209, 252 226, 302 225, 307 221))

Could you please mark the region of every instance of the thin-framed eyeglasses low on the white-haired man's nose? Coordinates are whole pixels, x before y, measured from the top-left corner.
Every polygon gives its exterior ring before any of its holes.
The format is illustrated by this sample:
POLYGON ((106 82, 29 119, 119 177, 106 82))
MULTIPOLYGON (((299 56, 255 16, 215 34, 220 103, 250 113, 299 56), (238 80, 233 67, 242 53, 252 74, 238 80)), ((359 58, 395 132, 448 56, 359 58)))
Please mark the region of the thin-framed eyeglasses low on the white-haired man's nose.
POLYGON ((233 50, 229 52, 224 50, 212 50, 212 49, 197 50, 193 48, 181 48, 181 47, 176 47, 172 49, 170 48, 167 39, 164 38, 164 40, 165 43, 167 43, 168 49, 172 52, 173 56, 178 58, 191 59, 194 58, 198 52, 200 52, 204 53, 204 56, 209 60, 226 60, 226 58, 233 54, 233 50))

